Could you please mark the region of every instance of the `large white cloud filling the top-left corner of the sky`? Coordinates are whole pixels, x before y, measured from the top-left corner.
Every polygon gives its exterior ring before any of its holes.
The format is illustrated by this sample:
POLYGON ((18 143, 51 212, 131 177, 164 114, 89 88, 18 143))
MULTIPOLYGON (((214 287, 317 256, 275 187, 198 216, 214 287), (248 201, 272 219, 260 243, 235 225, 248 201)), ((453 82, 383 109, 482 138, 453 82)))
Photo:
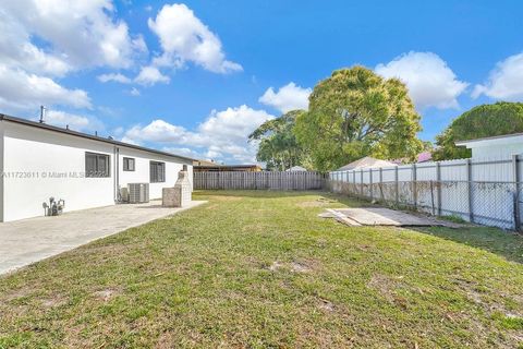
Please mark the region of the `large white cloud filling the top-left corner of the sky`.
POLYGON ((145 41, 132 38, 126 23, 112 17, 114 12, 110 0, 4 1, 2 62, 22 58, 25 70, 54 75, 86 67, 129 68, 134 56, 146 50, 145 41), (34 38, 49 47, 37 48, 34 38))

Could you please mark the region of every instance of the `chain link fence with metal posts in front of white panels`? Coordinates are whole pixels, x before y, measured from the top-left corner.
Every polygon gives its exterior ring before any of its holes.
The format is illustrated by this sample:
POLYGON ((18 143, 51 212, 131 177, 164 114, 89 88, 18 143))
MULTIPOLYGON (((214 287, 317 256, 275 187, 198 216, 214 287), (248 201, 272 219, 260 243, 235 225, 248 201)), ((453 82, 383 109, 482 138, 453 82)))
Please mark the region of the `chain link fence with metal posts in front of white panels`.
POLYGON ((466 221, 520 230, 523 183, 497 181, 410 180, 365 183, 330 178, 332 192, 405 207, 434 216, 453 216, 466 221))

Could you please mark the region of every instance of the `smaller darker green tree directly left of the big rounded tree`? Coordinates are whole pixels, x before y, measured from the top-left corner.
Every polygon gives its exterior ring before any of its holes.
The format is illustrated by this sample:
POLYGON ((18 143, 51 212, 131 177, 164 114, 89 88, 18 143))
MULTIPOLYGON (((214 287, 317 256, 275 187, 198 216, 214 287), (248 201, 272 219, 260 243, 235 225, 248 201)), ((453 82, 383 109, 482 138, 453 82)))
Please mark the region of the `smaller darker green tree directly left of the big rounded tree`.
POLYGON ((293 110, 283 116, 264 122, 250 136, 250 141, 258 141, 258 161, 267 164, 267 169, 283 171, 302 165, 303 151, 293 133, 296 118, 304 110, 293 110))

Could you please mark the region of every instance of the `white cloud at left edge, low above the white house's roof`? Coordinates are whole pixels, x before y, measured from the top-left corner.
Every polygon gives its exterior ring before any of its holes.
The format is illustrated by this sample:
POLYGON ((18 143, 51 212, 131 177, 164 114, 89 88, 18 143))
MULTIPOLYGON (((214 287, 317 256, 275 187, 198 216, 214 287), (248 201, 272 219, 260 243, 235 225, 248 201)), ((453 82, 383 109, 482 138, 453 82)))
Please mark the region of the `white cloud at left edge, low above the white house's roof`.
POLYGON ((36 111, 40 105, 92 108, 83 89, 68 89, 49 77, 0 64, 0 108, 36 111))

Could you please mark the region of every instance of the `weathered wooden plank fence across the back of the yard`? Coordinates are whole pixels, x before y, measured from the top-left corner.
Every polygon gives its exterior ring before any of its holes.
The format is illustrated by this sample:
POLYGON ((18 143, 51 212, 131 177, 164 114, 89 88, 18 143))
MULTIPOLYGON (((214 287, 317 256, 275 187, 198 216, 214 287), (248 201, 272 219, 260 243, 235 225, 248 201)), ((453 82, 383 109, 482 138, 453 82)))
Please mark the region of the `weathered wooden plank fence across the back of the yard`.
POLYGON ((194 172, 194 189, 319 190, 326 174, 289 172, 194 172))

